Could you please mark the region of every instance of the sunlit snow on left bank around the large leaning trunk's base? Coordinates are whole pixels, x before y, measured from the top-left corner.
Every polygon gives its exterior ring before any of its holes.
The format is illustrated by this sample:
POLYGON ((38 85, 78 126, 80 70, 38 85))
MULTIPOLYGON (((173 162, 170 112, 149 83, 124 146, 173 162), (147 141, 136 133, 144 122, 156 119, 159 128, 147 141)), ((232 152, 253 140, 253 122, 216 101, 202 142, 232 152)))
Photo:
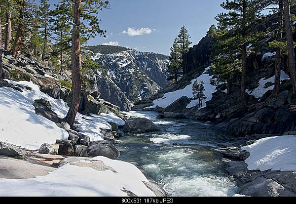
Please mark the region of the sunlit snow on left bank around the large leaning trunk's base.
MULTIPOLYGON (((59 128, 55 122, 38 116, 33 103, 35 99, 46 98, 51 103, 51 109, 64 118, 69 110, 62 99, 54 99, 39 90, 33 82, 13 82, 22 86, 30 86, 32 90, 23 89, 23 92, 8 87, 0 87, 0 141, 8 142, 23 148, 36 150, 41 144, 55 143, 56 139, 68 139, 68 132, 59 128)), ((77 130, 90 137, 91 141, 103 140, 103 129, 111 129, 108 122, 124 125, 124 121, 114 115, 101 114, 84 116, 76 115, 79 124, 77 130)))

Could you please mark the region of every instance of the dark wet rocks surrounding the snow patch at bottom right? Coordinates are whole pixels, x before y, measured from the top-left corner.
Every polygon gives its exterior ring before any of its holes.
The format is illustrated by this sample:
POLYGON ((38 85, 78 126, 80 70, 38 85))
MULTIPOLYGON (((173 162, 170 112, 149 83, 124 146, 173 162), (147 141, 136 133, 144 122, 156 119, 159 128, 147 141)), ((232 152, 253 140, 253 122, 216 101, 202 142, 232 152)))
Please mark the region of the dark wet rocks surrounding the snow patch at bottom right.
POLYGON ((248 164, 244 162, 250 157, 250 153, 240 148, 268 136, 250 135, 234 138, 232 141, 221 143, 220 147, 214 150, 223 158, 225 170, 235 181, 239 194, 252 197, 294 197, 296 196, 296 171, 249 170, 248 164))

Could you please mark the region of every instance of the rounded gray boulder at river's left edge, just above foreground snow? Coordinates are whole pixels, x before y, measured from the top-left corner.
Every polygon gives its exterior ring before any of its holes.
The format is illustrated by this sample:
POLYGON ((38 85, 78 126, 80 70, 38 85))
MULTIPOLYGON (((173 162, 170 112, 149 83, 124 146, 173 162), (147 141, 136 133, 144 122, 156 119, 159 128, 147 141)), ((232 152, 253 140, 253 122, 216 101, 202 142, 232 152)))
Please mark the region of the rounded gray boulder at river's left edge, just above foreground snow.
POLYGON ((92 157, 104 156, 110 159, 119 157, 120 152, 110 141, 94 141, 87 150, 87 154, 92 157))

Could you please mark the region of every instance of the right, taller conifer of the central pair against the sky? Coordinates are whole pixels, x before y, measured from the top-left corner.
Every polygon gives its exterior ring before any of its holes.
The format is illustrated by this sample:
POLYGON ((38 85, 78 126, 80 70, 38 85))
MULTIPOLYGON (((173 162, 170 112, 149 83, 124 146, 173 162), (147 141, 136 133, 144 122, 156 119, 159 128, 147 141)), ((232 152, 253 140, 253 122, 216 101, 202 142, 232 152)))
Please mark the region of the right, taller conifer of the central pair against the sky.
POLYGON ((182 26, 180 30, 180 34, 178 35, 178 43, 180 46, 180 52, 182 54, 182 68, 183 68, 183 73, 186 72, 186 59, 185 59, 185 54, 189 50, 189 45, 192 43, 189 41, 189 38, 191 38, 188 34, 188 31, 186 30, 185 26, 182 26))

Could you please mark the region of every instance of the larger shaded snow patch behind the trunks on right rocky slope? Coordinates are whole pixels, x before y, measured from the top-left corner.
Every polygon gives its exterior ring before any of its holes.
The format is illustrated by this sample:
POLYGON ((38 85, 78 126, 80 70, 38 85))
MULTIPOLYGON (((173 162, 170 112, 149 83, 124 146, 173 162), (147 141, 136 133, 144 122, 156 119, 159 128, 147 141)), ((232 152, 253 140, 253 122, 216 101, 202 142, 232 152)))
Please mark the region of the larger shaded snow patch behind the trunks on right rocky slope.
MULTIPOLYGON (((290 79, 289 75, 287 75, 284 71, 281 70, 281 81, 289 80, 289 79, 290 79)), ((265 83, 267 82, 274 82, 274 76, 267 80, 264 80, 264 78, 260 79, 259 86, 254 90, 247 91, 247 93, 249 95, 255 96, 255 98, 261 98, 263 94, 266 93, 266 91, 274 89, 274 85, 264 88, 265 83)))

